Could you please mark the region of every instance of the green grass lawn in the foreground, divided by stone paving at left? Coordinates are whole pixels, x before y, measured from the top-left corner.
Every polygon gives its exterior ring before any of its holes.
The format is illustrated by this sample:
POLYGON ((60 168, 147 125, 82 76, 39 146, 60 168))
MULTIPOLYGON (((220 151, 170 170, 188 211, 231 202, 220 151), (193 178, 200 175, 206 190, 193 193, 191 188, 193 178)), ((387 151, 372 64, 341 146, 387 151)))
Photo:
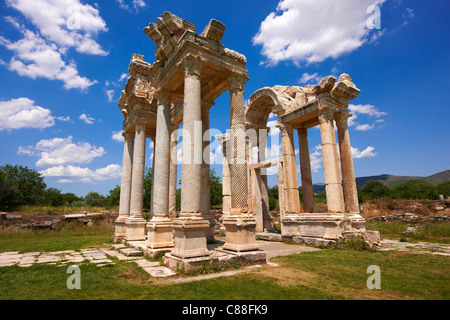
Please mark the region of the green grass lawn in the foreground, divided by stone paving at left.
MULTIPOLYGON (((107 227, 0 234, 0 251, 57 251, 98 246, 107 227)), ((81 290, 68 290, 66 267, 0 268, 0 299, 450 299, 450 259, 395 252, 322 250, 279 257, 279 267, 188 283, 150 277, 136 264, 82 263, 81 290), (367 267, 381 269, 381 290, 369 290, 367 267)))

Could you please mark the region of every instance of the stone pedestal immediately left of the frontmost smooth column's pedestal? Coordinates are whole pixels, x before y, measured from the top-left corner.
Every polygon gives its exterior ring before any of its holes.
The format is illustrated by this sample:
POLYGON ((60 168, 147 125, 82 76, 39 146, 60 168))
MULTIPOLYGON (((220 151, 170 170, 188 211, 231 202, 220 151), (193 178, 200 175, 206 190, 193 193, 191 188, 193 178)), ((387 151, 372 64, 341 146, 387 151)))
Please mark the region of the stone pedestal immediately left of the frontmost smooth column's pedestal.
POLYGON ((173 248, 173 222, 166 217, 153 217, 147 223, 147 248, 173 248))

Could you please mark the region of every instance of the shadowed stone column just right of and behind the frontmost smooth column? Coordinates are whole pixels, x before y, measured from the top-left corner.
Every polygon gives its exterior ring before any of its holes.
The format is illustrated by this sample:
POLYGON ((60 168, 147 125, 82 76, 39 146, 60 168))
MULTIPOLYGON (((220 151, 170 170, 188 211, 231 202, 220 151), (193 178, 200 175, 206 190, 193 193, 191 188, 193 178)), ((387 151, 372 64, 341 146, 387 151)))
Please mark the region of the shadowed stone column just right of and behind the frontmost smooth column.
POLYGON ((214 240, 214 227, 216 220, 211 217, 211 158, 209 135, 209 109, 214 105, 212 101, 202 103, 202 131, 203 131, 203 163, 202 163, 202 215, 203 219, 209 221, 209 229, 206 233, 207 240, 214 240))

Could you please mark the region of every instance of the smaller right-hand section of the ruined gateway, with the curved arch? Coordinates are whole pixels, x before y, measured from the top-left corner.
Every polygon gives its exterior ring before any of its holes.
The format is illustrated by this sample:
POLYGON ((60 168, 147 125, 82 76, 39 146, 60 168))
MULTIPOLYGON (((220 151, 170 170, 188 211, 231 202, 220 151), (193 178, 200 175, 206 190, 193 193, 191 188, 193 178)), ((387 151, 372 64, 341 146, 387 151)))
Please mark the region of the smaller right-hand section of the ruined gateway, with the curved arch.
MULTIPOLYGON (((278 115, 278 127, 282 136, 282 157, 278 161, 279 198, 282 234, 285 237, 317 238, 335 240, 343 233, 365 232, 365 220, 359 214, 358 194, 356 189, 353 158, 348 133, 349 100, 354 99, 360 91, 351 78, 343 74, 336 79, 324 78, 320 84, 305 87, 275 86, 262 88, 251 97, 246 109, 246 125, 259 133, 256 144, 259 156, 265 154, 267 120, 272 112, 278 115), (337 125, 339 154, 336 143, 334 122, 337 125), (311 165, 308 147, 308 129, 320 126, 322 139, 323 167, 327 195, 328 213, 314 213, 311 165), (303 210, 300 208, 297 162, 294 147, 294 129, 297 130, 300 154, 301 184, 303 190, 303 210), (342 175, 341 175, 342 169, 342 175), (342 188, 343 184, 343 188, 342 188), (345 195, 345 201, 344 201, 345 195)), ((251 140, 251 139, 250 139, 251 140)), ((269 166, 264 158, 260 163, 249 168, 269 166)), ((261 182, 258 173, 255 184, 258 189, 251 191, 255 214, 262 216, 257 221, 266 221, 267 210, 264 199, 267 196, 267 182, 261 182), (257 181, 260 181, 259 183, 257 181), (261 191, 262 190, 262 194, 261 191), (256 197, 255 197, 256 195, 256 197), (259 203, 263 203, 261 212, 259 203)), ((258 231, 266 229, 266 222, 258 231)), ((269 230, 269 229, 267 229, 269 230)))

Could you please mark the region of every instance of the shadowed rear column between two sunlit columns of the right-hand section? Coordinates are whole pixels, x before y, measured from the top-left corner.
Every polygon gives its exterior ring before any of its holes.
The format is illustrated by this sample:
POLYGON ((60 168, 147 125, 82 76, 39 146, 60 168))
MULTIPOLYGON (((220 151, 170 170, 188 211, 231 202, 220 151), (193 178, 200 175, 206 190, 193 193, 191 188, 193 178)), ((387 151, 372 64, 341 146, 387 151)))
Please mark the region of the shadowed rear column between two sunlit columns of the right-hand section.
POLYGON ((308 130, 298 128, 298 143, 300 153, 300 173, 302 177, 303 209, 304 212, 314 212, 314 192, 311 177, 311 160, 309 158, 308 130))

